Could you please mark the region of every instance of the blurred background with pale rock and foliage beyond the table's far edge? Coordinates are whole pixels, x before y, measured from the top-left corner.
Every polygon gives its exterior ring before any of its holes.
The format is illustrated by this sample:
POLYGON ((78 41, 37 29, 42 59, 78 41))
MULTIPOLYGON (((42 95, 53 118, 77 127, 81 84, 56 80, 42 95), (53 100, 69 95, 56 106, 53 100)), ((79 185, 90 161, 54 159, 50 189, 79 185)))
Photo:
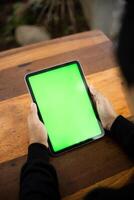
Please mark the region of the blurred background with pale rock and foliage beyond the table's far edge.
POLYGON ((124 0, 0 0, 0 51, 92 29, 116 40, 124 0))

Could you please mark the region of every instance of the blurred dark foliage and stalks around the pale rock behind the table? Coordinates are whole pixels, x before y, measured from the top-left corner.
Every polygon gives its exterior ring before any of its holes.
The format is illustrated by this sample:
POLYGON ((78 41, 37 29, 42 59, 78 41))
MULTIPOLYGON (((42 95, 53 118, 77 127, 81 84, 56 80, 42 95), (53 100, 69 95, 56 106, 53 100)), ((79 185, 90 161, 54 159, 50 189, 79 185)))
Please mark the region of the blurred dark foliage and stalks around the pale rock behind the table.
POLYGON ((0 43, 7 45, 16 43, 14 32, 18 26, 24 24, 44 26, 52 38, 88 29, 79 0, 5 3, 0 5, 0 22, 0 43))

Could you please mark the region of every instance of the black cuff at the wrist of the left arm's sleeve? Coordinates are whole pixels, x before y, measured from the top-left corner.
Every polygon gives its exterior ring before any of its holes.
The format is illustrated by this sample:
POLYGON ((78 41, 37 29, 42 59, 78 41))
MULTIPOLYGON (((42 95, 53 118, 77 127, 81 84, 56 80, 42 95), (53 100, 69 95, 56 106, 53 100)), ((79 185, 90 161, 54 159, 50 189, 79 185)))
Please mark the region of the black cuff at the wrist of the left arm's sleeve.
POLYGON ((49 150, 48 148, 39 143, 33 143, 28 147, 28 161, 43 159, 44 161, 49 161, 49 150))

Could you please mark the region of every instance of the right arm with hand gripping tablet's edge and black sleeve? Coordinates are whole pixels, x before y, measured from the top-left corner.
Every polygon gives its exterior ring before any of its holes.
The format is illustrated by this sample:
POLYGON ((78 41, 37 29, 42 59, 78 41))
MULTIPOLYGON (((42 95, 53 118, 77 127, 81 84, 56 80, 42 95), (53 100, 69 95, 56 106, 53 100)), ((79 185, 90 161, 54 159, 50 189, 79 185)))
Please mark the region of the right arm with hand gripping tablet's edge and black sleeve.
POLYGON ((100 92, 91 86, 90 90, 103 127, 110 131, 111 136, 121 144, 129 155, 134 157, 134 124, 117 115, 111 103, 100 92))

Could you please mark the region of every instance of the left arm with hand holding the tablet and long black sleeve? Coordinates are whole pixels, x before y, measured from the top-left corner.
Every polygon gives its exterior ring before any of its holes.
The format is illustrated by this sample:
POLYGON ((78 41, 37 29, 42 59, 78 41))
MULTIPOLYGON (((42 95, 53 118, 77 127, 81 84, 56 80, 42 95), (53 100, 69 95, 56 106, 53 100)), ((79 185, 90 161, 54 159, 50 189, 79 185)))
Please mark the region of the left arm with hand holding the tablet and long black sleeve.
POLYGON ((21 170, 20 200, 59 200, 60 193, 54 167, 49 163, 47 134, 37 115, 36 105, 28 118, 28 157, 21 170))

